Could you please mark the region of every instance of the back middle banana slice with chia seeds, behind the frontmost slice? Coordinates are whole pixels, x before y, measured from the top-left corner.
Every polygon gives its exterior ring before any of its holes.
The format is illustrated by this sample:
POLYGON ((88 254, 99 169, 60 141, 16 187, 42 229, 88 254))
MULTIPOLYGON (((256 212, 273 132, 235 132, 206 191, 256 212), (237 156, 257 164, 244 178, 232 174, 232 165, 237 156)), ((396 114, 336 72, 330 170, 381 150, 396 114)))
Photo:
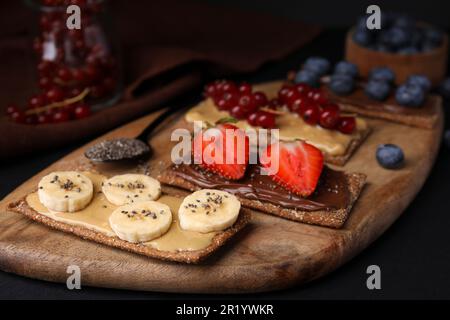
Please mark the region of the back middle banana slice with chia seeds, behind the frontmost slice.
POLYGON ((102 191, 109 202, 121 206, 158 199, 161 184, 144 174, 123 174, 106 180, 102 191))

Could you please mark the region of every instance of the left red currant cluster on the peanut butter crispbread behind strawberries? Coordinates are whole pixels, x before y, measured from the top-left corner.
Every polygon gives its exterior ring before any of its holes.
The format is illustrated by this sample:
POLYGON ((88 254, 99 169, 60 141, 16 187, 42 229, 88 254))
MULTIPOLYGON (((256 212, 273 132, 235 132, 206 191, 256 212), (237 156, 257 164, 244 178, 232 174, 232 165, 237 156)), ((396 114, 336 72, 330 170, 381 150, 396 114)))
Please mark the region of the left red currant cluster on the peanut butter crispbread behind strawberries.
POLYGON ((264 92, 253 92, 248 83, 237 85, 229 80, 217 80, 206 85, 204 95, 213 99, 219 110, 228 111, 236 119, 247 119, 253 126, 275 127, 274 101, 269 101, 264 92))

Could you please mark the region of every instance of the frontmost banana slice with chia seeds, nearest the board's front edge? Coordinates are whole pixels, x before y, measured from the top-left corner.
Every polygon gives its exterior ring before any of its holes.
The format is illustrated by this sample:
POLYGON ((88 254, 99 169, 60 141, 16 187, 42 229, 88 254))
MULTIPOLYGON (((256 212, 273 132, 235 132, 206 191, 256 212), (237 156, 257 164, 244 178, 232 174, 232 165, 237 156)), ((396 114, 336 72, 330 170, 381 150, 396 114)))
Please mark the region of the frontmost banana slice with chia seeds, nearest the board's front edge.
POLYGON ((156 201, 121 206, 109 217, 109 225, 116 235, 133 243, 158 238, 169 230, 171 224, 169 206, 156 201))

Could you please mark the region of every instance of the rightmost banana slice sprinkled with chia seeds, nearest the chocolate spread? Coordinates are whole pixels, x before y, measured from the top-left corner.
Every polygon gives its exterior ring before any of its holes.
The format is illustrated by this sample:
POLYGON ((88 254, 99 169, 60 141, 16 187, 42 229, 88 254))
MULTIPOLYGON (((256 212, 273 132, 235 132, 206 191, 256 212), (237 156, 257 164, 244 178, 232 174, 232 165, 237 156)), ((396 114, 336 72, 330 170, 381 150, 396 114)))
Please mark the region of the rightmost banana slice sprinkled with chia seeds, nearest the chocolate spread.
POLYGON ((178 218, 184 230, 202 233, 221 231, 236 222, 240 209, 241 203, 234 195, 203 189, 184 198, 178 218))

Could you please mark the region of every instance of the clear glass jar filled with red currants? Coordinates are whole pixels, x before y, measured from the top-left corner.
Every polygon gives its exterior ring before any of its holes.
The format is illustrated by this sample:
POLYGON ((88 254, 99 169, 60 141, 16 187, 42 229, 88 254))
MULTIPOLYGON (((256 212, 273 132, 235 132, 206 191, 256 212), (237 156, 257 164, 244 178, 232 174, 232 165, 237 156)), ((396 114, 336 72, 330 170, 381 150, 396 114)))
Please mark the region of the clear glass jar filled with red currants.
MULTIPOLYGON (((105 0, 26 0, 35 11, 33 52, 43 96, 98 110, 122 92, 119 46, 105 0), (69 29, 69 5, 80 8, 81 28, 69 29), (53 97, 49 90, 56 92, 53 97)), ((72 110, 73 111, 73 110, 72 110)))

